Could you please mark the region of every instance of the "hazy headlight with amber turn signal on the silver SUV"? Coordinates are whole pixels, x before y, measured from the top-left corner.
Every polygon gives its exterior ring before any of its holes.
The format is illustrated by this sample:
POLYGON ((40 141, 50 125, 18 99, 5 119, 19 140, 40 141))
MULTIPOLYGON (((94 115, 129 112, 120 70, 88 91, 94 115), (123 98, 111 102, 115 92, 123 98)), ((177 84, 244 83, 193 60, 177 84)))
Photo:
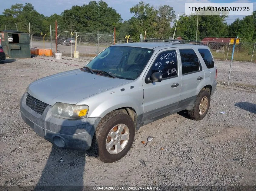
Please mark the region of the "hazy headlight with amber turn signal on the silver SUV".
POLYGON ((57 102, 52 107, 52 116, 64 119, 81 119, 87 116, 88 110, 88 105, 73 105, 57 102))

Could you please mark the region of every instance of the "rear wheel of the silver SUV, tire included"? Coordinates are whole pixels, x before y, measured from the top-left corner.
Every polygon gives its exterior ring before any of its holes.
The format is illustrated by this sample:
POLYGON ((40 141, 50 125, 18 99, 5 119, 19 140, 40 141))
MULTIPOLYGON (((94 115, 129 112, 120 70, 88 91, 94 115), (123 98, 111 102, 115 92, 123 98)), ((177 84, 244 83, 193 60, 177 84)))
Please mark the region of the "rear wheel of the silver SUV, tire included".
POLYGON ((201 90, 195 100, 194 107, 192 110, 188 111, 188 115, 190 116, 191 119, 193 120, 201 120, 206 116, 208 113, 209 107, 211 103, 211 97, 210 93, 207 90, 201 90), (207 106, 204 106, 204 109, 201 104, 202 99, 204 98, 203 102, 205 102, 205 97, 207 98, 207 106), (199 110, 199 107, 201 108, 201 111, 199 110))

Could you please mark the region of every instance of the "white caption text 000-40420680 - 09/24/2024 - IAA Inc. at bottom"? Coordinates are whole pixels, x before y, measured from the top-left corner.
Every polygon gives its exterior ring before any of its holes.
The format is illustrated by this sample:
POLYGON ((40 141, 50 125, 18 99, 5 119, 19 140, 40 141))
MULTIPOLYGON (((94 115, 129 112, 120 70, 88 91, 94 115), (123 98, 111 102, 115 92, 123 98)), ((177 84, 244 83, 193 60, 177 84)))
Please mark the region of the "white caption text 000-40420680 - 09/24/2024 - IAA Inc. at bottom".
POLYGON ((93 190, 160 190, 156 186, 94 186, 93 190))

